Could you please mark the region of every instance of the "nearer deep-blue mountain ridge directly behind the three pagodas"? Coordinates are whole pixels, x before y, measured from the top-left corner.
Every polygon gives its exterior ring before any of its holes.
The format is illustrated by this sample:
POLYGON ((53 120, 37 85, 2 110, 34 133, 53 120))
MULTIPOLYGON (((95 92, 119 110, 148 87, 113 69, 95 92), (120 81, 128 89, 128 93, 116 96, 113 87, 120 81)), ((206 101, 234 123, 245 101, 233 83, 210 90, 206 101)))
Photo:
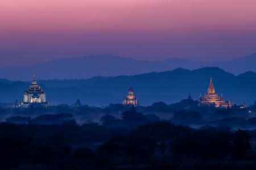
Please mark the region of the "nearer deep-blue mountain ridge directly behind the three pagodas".
MULTIPOLYGON (((127 65, 126 69, 129 68, 133 70, 133 66, 127 65)), ((210 76, 216 91, 223 94, 224 99, 237 104, 252 104, 256 100, 256 73, 249 71, 236 76, 218 67, 82 80, 39 80, 38 83, 46 90, 47 100, 52 104, 73 104, 80 99, 82 104, 104 106, 121 103, 131 82, 141 104, 150 105, 156 101, 171 104, 186 99, 189 91, 193 99, 199 99, 200 93, 207 92, 210 76)), ((22 100, 23 91, 30 83, 0 80, 0 103, 22 100)))

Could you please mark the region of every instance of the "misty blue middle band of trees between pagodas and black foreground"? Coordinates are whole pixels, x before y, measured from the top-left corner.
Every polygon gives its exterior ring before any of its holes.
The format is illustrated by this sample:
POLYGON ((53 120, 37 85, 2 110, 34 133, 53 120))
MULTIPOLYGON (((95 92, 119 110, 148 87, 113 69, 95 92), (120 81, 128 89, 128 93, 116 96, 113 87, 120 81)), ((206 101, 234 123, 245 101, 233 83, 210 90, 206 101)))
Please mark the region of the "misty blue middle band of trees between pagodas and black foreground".
POLYGON ((231 126, 240 129, 256 128, 256 104, 241 108, 215 108, 199 105, 194 100, 181 100, 167 105, 163 102, 131 109, 122 104, 107 107, 88 105, 56 105, 49 108, 0 108, 0 121, 34 124, 62 124, 74 119, 77 124, 100 122, 105 126, 137 126, 151 121, 168 120, 185 126, 231 126), (128 110, 128 111, 127 111, 128 110), (135 113, 135 112, 137 113, 135 113))

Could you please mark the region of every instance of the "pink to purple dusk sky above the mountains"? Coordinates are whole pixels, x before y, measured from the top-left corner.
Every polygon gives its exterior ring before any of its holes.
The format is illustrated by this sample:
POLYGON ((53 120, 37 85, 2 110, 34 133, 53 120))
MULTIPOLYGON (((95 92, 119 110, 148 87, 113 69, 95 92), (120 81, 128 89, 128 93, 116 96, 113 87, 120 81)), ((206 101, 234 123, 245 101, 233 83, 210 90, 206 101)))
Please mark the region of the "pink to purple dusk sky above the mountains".
POLYGON ((0 68, 88 54, 216 61, 255 52, 255 0, 0 2, 0 68))

